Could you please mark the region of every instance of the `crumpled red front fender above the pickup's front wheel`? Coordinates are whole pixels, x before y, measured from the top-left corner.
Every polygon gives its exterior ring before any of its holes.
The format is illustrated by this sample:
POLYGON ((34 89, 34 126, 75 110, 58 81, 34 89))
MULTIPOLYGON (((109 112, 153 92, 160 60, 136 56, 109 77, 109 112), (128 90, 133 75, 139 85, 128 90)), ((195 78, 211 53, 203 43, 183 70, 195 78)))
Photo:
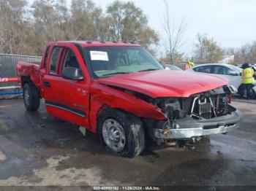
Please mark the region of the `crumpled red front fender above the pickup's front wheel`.
POLYGON ((104 106, 122 109, 138 117, 166 120, 165 114, 157 106, 122 90, 94 82, 90 88, 90 93, 90 122, 91 130, 94 132, 97 132, 97 114, 104 106))

